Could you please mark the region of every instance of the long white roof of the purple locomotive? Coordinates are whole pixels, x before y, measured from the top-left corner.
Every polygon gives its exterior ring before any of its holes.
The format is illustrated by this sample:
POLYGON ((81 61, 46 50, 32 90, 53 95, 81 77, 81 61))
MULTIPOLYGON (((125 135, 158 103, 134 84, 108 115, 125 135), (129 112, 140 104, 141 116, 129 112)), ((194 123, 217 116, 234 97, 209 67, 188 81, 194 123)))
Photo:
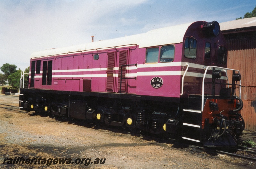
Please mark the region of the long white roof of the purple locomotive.
POLYGON ((139 45, 139 48, 145 48, 165 44, 181 43, 189 25, 191 25, 191 23, 155 29, 146 33, 132 36, 34 52, 31 54, 31 58, 68 54, 87 50, 118 48, 131 45, 139 45))

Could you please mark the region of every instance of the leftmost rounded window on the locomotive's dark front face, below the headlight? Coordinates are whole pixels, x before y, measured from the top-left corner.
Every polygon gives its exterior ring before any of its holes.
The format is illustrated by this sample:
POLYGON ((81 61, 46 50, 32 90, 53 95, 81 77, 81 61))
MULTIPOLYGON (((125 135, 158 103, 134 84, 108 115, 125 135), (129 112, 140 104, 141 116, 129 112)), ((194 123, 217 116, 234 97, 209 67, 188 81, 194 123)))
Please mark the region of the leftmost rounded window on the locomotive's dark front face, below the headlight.
POLYGON ((184 43, 184 56, 186 58, 195 59, 196 58, 196 46, 197 42, 194 37, 186 37, 184 43))

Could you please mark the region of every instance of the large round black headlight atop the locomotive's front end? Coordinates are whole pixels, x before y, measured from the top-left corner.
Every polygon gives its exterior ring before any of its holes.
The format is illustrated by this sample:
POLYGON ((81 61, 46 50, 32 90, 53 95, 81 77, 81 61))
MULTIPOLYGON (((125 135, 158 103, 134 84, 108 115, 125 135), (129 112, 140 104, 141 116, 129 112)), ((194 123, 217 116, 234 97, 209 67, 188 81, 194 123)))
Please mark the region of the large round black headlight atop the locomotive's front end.
POLYGON ((207 22, 203 30, 207 37, 216 37, 220 33, 220 25, 217 21, 207 22))

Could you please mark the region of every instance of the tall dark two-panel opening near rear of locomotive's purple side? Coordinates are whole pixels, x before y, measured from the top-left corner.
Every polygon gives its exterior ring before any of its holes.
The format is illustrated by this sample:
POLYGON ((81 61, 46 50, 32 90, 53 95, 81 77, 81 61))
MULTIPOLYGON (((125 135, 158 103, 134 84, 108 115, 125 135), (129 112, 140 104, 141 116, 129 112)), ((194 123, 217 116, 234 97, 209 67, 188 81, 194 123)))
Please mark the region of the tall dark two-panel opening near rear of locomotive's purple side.
POLYGON ((52 85, 52 61, 43 61, 42 85, 52 85))

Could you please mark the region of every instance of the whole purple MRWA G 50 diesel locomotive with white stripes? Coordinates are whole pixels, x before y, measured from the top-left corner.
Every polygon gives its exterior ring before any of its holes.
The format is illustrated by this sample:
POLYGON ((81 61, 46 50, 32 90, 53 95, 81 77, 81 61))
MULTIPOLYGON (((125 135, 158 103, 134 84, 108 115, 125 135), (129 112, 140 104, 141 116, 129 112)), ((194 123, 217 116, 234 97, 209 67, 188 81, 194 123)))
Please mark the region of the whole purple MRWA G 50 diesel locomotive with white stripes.
POLYGON ((218 22, 198 21, 35 52, 19 100, 26 111, 223 149, 244 130, 240 95, 218 22))

